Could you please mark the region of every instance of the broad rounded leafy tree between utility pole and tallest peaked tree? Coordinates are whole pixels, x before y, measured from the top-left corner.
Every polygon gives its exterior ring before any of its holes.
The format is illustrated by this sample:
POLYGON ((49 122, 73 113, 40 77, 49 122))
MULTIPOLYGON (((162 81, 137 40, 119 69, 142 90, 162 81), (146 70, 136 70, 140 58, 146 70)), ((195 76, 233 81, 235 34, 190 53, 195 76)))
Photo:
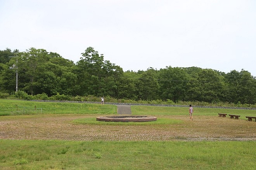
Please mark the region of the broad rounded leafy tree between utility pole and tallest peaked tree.
POLYGON ((19 86, 31 95, 46 93, 76 95, 77 77, 72 73, 73 61, 45 49, 30 48, 20 53, 19 86))

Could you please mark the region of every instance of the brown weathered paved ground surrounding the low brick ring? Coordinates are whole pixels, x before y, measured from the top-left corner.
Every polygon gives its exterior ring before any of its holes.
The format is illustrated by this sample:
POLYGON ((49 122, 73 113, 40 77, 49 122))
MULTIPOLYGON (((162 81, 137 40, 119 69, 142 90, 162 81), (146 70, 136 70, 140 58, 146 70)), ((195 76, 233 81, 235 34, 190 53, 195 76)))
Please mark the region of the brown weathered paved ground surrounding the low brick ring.
POLYGON ((85 114, 47 114, 0 117, 0 139, 71 141, 256 141, 256 122, 229 117, 157 116, 180 119, 181 124, 96 125, 72 120, 85 114))

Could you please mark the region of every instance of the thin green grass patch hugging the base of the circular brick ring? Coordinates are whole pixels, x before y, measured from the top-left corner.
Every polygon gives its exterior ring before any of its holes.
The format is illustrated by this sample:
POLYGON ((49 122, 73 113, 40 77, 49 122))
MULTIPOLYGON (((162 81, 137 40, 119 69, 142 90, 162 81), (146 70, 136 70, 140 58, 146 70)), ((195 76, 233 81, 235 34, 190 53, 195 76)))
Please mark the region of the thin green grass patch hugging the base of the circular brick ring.
POLYGON ((168 118, 157 118, 157 121, 149 121, 149 122, 104 122, 104 121, 96 121, 95 117, 76 119, 72 121, 75 124, 97 124, 97 125, 160 125, 160 124, 180 124, 183 121, 177 119, 168 119, 168 118))

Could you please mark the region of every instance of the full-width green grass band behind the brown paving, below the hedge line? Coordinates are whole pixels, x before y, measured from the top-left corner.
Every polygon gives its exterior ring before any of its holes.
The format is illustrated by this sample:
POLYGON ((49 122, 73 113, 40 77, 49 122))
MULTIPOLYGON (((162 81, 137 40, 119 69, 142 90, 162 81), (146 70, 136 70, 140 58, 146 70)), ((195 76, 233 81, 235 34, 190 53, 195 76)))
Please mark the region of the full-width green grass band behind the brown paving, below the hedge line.
MULTIPOLYGON (((187 115, 187 107, 131 106, 133 115, 187 115)), ((116 105, 69 102, 33 102, 0 99, 0 116, 21 114, 117 114, 116 105), (36 106, 36 110, 35 110, 36 106), (41 109, 42 108, 42 109, 41 109)), ((218 113, 256 116, 256 110, 194 107, 194 115, 216 116, 218 113)))

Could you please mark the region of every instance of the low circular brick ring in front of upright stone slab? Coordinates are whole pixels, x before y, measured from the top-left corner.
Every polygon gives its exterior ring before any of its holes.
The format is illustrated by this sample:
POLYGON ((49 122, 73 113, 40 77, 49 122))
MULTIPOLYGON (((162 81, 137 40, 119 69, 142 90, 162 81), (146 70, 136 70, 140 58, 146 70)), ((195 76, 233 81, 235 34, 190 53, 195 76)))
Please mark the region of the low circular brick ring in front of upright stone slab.
POLYGON ((104 116, 97 117, 97 121, 104 122, 148 122, 156 121, 154 116, 104 116))

